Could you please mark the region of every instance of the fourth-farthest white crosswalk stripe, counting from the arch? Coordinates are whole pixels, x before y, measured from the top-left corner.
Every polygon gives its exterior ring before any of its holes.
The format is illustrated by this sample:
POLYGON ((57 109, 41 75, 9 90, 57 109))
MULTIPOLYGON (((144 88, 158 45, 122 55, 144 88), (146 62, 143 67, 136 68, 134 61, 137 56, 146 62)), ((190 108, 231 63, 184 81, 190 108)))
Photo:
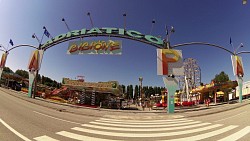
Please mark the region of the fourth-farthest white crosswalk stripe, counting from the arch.
POLYGON ((104 130, 115 130, 115 131, 144 131, 144 132, 152 132, 152 131, 170 131, 170 130, 180 130, 180 129, 187 129, 187 128, 195 128, 199 126, 206 126, 211 123, 201 123, 201 124, 194 124, 190 126, 179 126, 179 127, 171 127, 171 128, 117 128, 117 127, 107 127, 107 126, 98 126, 98 125, 90 125, 90 124, 83 124, 84 127, 96 128, 96 129, 104 129, 104 130))

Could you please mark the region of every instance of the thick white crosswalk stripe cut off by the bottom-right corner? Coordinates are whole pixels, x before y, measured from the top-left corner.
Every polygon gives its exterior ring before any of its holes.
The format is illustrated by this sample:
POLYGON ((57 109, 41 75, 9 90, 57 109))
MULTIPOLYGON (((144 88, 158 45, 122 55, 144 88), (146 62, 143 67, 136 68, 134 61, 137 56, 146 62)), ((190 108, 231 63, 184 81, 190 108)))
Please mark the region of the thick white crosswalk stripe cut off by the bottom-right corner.
POLYGON ((250 126, 247 126, 245 128, 243 128, 242 130, 227 136, 226 138, 220 139, 219 141, 236 141, 238 139, 240 139, 241 137, 245 136, 246 134, 248 134, 250 132, 250 126))

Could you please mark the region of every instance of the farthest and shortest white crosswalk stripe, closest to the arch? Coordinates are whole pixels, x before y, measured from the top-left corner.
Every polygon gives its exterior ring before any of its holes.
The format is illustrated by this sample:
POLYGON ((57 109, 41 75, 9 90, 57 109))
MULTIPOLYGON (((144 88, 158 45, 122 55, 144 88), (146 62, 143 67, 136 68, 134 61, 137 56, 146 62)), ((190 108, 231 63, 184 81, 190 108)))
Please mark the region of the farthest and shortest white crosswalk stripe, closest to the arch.
POLYGON ((117 121, 117 122, 169 122, 169 121, 184 121, 188 120, 185 118, 180 118, 180 119, 166 119, 166 120, 120 120, 120 119, 108 119, 108 118, 100 118, 99 120, 105 120, 105 121, 117 121))

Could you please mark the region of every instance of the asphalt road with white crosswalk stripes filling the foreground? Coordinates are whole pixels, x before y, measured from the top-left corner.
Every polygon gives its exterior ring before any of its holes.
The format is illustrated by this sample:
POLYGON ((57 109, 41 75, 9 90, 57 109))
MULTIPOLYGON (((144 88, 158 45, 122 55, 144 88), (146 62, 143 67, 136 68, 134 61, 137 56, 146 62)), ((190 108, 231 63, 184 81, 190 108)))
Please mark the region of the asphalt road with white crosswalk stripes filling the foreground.
POLYGON ((3 91, 0 95, 1 141, 250 139, 249 104, 206 116, 178 119, 163 116, 148 120, 140 119, 140 114, 134 119, 124 119, 126 114, 111 116, 105 112, 103 117, 76 115, 33 104, 3 91))

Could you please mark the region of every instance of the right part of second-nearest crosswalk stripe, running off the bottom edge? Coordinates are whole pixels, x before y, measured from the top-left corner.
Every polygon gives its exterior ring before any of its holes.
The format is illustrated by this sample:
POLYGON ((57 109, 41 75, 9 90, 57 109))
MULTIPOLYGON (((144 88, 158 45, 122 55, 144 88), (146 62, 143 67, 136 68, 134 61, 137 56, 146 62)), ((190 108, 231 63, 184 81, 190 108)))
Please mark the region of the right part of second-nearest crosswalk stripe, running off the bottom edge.
POLYGON ((225 128, 219 129, 219 130, 214 130, 212 132, 208 132, 205 134, 199 134, 196 136, 191 136, 191 137, 186 137, 186 138, 179 138, 179 139, 172 139, 172 140, 159 140, 159 141, 198 141, 198 140, 202 140, 202 139, 206 139, 209 137, 213 137, 213 136, 222 134, 222 133, 227 132, 229 130, 232 130, 236 127, 238 127, 238 126, 231 125, 231 126, 227 126, 225 128))

